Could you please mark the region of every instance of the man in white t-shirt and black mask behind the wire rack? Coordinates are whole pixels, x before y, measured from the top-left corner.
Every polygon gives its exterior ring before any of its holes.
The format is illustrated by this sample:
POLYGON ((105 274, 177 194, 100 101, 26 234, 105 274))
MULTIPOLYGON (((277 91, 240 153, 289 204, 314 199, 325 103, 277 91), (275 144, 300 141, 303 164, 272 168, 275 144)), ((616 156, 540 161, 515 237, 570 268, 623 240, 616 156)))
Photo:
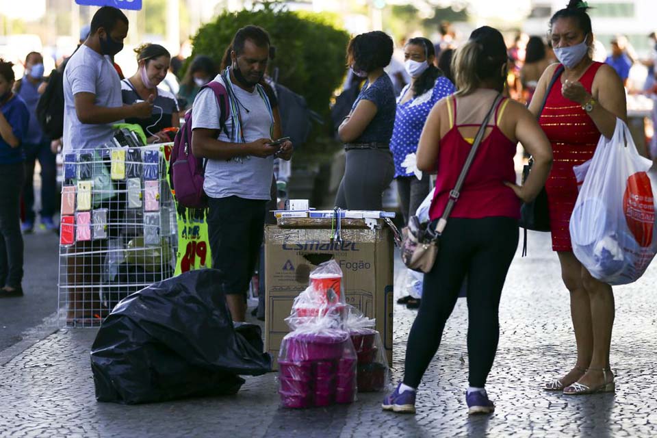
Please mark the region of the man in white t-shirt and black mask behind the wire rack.
MULTIPOLYGON (((104 6, 94 14, 90 33, 70 57, 64 70, 64 153, 92 152, 110 142, 112 125, 127 117, 148 118, 153 99, 123 105, 121 83, 110 57, 123 49, 128 18, 116 8, 104 6)), ((116 201, 114 202, 116 205, 116 201)), ((122 222, 112 216, 110 220, 122 222)), ((111 230, 110 230, 111 231, 111 230)), ((103 240, 77 242, 68 248, 68 325, 90 326, 107 309, 101 305, 100 285, 105 248, 103 240)))

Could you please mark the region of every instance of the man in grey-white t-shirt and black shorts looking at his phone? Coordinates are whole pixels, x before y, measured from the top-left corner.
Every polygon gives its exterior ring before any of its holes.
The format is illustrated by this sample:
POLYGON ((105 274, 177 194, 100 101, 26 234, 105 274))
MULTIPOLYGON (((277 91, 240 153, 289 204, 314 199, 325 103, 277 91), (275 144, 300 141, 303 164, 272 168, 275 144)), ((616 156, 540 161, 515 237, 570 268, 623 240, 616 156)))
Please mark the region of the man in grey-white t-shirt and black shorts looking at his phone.
POLYGON ((291 159, 293 146, 289 138, 281 138, 279 112, 261 86, 269 35, 261 27, 246 26, 237 31, 231 47, 231 66, 214 79, 228 91, 231 114, 220 129, 222 109, 214 92, 201 90, 193 105, 192 151, 207 158, 203 188, 212 266, 222 271, 233 321, 241 322, 262 244, 274 157, 291 159))

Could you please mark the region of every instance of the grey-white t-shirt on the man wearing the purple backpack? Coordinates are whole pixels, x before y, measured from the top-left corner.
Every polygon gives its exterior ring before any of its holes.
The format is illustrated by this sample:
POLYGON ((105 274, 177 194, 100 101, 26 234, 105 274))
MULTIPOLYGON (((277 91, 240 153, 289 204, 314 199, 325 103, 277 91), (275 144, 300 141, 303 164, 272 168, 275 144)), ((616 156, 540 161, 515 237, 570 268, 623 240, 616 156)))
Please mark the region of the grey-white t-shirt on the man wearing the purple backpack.
MULTIPOLYGON (((218 75, 215 79, 223 83, 218 75)), ((233 91, 239 103, 242 117, 242 131, 246 142, 259 138, 271 138, 271 128, 274 120, 268 110, 268 105, 257 90, 248 92, 233 84, 233 91)), ((233 105, 235 106, 235 105, 233 105)), ((192 130, 196 128, 220 129, 220 108, 214 92, 205 88, 196 95, 192 105, 192 130)), ((227 117, 226 127, 229 134, 233 129, 233 118, 227 117)), ((222 131, 218 137, 222 142, 231 142, 231 138, 222 131)), ((246 199, 270 200, 272 175, 274 174, 274 158, 240 157, 229 161, 209 159, 205 167, 205 183, 203 189, 211 198, 227 198, 238 196, 246 199)))

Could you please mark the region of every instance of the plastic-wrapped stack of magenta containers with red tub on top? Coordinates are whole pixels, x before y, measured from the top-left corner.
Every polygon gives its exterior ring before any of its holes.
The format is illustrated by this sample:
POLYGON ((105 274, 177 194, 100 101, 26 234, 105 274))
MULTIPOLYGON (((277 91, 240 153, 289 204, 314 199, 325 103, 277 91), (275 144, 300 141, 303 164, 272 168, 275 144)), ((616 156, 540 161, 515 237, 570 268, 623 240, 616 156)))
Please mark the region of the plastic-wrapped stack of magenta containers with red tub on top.
POLYGON ((356 398, 357 355, 343 328, 342 271, 335 261, 311 273, 311 285, 294 300, 286 319, 293 330, 279 354, 283 407, 351 403, 356 398))

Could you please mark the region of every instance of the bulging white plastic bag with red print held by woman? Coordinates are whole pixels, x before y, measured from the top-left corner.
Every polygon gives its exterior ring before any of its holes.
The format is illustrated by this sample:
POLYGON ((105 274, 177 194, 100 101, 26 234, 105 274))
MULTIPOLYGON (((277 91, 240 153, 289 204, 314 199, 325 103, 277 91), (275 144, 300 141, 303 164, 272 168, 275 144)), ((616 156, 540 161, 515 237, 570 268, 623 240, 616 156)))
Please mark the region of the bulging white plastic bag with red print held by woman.
POLYGON ((573 252, 596 279, 623 285, 643 275, 657 253, 652 166, 620 119, 601 136, 570 218, 573 252))

